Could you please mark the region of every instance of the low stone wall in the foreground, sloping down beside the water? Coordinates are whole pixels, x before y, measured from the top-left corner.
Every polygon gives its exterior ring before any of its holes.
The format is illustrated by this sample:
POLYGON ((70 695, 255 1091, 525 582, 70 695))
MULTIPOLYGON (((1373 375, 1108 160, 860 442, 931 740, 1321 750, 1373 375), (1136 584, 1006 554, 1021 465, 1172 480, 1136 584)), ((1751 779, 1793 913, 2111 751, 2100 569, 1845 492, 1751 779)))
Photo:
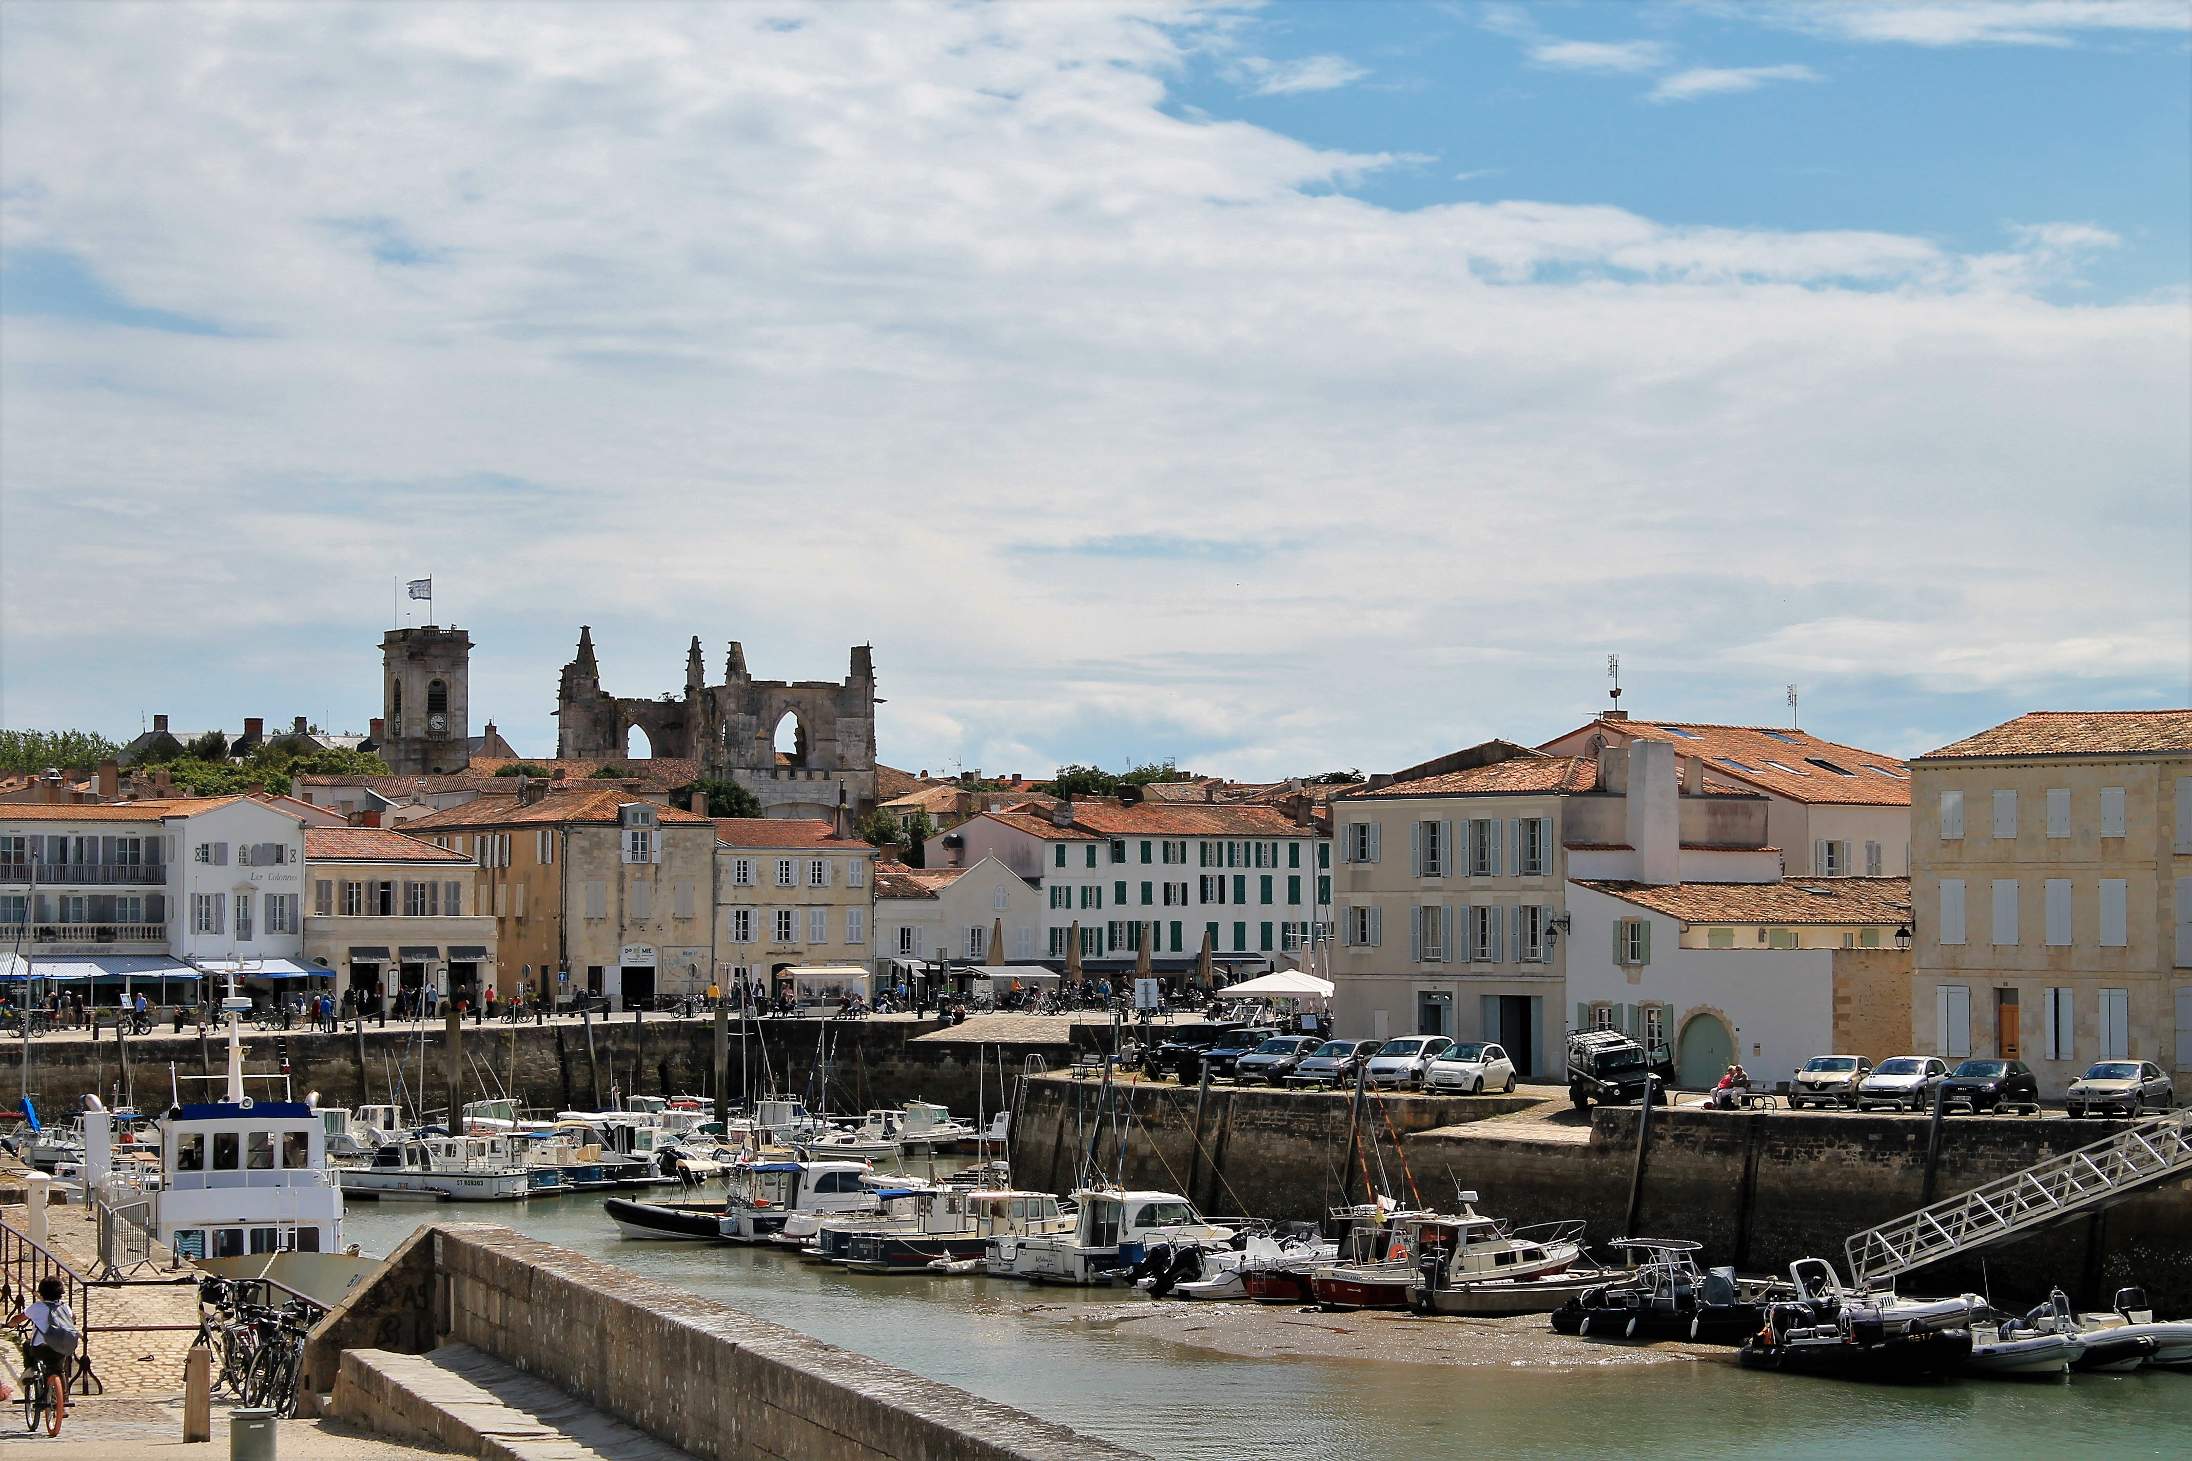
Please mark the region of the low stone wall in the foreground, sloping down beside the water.
POLYGON ((364 1426, 342 1349, 465 1343, 704 1461, 1146 1461, 491 1222, 421 1229, 313 1330, 305 1373, 364 1426))

